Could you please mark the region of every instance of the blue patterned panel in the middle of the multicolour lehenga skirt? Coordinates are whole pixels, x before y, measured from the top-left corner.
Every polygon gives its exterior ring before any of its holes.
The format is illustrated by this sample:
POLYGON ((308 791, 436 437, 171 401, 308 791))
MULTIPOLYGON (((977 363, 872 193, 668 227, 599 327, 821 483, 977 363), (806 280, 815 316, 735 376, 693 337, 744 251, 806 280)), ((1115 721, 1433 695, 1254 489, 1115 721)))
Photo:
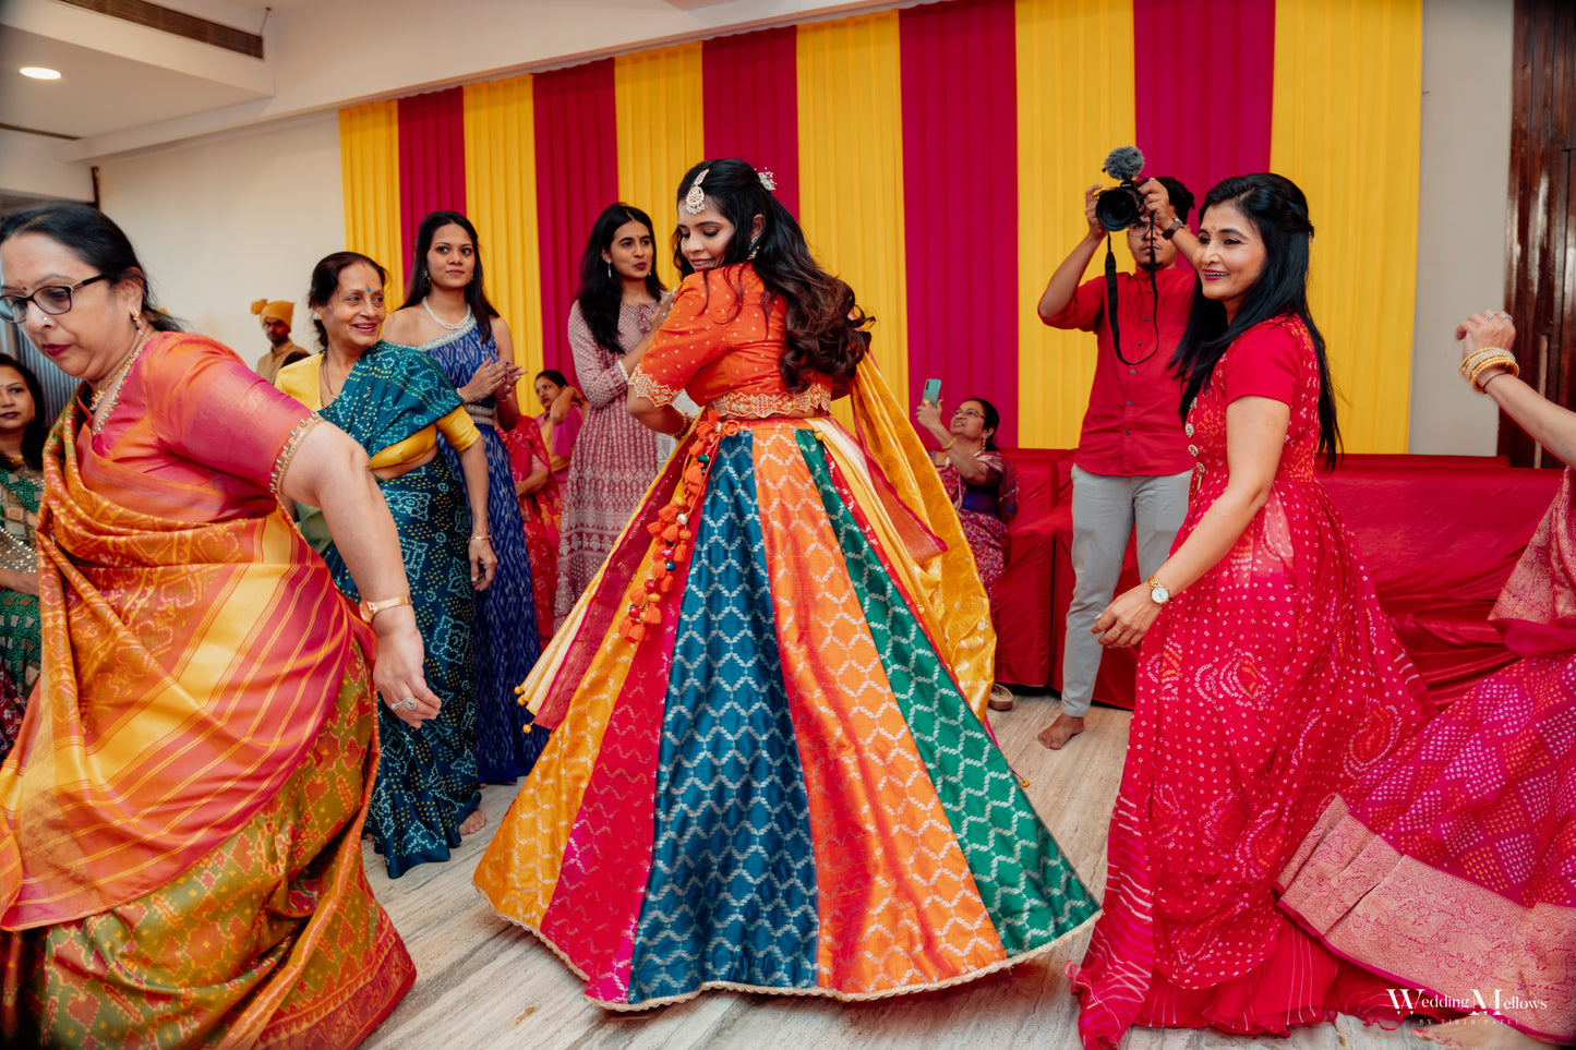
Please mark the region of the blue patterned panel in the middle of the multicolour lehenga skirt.
POLYGON ((725 438, 679 609, 630 1003, 816 985, 815 853, 749 432, 725 438))

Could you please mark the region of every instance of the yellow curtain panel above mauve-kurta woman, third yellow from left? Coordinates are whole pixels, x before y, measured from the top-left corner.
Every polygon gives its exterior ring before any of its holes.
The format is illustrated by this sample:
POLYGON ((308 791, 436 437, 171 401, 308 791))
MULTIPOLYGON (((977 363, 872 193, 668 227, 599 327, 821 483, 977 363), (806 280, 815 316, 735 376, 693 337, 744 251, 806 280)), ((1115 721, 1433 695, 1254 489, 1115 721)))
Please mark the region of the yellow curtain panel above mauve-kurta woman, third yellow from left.
POLYGON ((678 282, 668 233, 673 194, 690 164, 706 156, 700 49, 659 47, 613 60, 618 106, 618 195, 656 224, 657 277, 678 282))

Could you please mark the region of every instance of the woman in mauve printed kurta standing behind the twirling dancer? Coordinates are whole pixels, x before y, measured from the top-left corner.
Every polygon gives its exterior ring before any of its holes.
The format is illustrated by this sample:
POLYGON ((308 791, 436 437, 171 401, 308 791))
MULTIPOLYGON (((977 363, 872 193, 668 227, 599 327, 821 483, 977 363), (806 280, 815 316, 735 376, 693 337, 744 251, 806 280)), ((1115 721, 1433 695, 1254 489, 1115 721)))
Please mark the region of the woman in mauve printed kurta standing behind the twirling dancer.
POLYGON ((654 263, 646 213, 624 203, 604 208, 580 260, 580 295, 569 307, 569 348, 586 408, 564 484, 555 627, 591 585, 662 462, 657 435, 624 410, 624 358, 646 345, 662 309, 654 263), (610 312, 608 331, 597 333, 586 317, 591 301, 610 312))

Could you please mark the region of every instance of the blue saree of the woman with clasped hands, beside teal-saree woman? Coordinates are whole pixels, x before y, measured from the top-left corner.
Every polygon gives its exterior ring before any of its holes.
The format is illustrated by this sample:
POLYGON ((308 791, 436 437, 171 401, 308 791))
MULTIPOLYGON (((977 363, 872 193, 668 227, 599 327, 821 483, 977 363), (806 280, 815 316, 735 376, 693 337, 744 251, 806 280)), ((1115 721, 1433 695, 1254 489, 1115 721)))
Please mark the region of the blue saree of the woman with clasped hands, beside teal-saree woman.
MULTIPOLYGON (((487 361, 498 356, 492 339, 482 341, 474 318, 452 334, 414 347, 429 355, 459 389, 487 361)), ((481 402, 493 408, 492 399, 481 402)), ((478 427, 487 451, 487 527, 498 569, 492 585, 474 596, 476 604, 476 761, 481 779, 509 784, 525 776, 547 746, 542 730, 525 732, 531 713, 515 703, 514 687, 541 654, 536 629, 536 594, 531 560, 525 549, 525 525, 514 495, 509 452, 493 427, 478 427)), ((441 445, 454 473, 465 479, 460 457, 441 445)))

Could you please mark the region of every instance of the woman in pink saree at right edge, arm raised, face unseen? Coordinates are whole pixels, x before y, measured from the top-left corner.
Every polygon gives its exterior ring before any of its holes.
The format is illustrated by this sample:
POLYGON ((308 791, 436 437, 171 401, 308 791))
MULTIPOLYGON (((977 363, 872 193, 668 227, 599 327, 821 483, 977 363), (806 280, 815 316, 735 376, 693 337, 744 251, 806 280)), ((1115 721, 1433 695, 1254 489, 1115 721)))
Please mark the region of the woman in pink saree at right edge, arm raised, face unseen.
MULTIPOLYGON (((1576 413, 1516 377, 1515 334, 1497 311, 1464 320, 1463 372, 1576 464, 1576 413)), ((1423 1030, 1445 1045, 1576 1042, 1573 495, 1567 467, 1494 605, 1522 659, 1336 796, 1280 878, 1284 911, 1393 985, 1381 1014, 1469 1012, 1423 1030)))

